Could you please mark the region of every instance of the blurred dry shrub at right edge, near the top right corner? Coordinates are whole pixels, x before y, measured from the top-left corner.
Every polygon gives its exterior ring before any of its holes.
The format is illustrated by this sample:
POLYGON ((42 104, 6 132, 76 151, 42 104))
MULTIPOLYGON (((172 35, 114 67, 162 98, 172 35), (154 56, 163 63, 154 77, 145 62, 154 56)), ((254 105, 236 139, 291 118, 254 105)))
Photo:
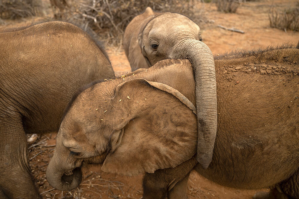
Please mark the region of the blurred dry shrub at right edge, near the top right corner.
POLYGON ((271 8, 269 21, 270 27, 299 31, 299 2, 295 8, 289 8, 283 12, 277 11, 274 7, 271 8))

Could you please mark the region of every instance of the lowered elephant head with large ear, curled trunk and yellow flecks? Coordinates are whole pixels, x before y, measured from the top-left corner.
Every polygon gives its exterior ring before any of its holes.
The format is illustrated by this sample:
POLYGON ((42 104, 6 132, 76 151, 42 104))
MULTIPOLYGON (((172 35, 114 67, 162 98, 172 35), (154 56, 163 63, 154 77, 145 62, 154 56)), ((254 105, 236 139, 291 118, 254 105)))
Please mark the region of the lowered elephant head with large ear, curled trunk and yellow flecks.
POLYGON ((175 167, 196 153, 195 112, 184 95, 159 82, 97 83, 79 94, 62 120, 48 182, 74 189, 86 164, 123 175, 175 167))

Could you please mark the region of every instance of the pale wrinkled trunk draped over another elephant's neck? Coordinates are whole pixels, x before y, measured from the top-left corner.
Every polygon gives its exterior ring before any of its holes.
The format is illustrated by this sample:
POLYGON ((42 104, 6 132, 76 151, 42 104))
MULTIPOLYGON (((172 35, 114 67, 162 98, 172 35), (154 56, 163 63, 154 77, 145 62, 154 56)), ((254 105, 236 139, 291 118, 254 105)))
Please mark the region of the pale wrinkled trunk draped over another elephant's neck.
POLYGON ((173 58, 189 59, 195 77, 197 112, 197 160, 204 169, 212 161, 217 131, 217 95, 214 58, 210 48, 195 39, 181 40, 173 58))

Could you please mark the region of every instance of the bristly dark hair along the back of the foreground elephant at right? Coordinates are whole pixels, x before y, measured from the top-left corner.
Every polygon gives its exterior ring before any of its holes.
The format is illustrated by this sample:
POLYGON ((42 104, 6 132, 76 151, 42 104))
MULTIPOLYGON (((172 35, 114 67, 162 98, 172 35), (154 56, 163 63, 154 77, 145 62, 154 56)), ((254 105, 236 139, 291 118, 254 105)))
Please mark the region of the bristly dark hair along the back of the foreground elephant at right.
POLYGON ((268 46, 267 48, 256 48, 251 50, 243 50, 238 49, 234 50, 230 53, 223 53, 221 55, 214 55, 214 59, 237 59, 237 58, 243 58, 243 57, 249 57, 249 56, 258 56, 261 53, 265 53, 271 50, 280 50, 280 49, 286 49, 286 48, 298 48, 299 49, 299 42, 297 47, 294 46, 293 43, 285 43, 282 45, 277 46, 268 46))

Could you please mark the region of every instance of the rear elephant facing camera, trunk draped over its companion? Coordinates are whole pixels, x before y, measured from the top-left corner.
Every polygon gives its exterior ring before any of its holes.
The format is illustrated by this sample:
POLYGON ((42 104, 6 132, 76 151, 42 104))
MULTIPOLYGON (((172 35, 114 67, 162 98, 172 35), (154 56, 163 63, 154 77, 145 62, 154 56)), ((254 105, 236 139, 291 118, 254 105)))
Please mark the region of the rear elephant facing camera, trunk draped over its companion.
POLYGON ((216 76, 212 52, 201 40, 198 25, 188 17, 154 13, 148 7, 126 28, 124 48, 132 69, 149 68, 163 59, 190 60, 196 81, 197 160, 207 168, 217 131, 216 76))

